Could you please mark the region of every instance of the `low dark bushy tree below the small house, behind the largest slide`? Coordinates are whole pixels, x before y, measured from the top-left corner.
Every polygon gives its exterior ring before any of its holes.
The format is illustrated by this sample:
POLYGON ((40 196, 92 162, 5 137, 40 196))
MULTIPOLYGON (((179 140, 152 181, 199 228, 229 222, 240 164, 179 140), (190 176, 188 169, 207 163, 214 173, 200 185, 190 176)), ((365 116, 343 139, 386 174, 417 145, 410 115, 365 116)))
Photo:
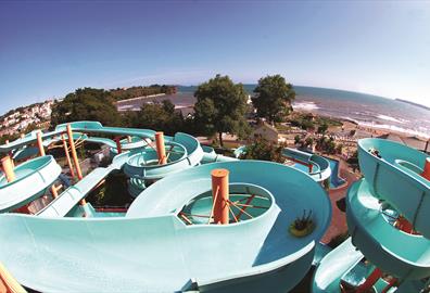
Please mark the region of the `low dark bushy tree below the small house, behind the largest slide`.
POLYGON ((246 151, 240 156, 242 160, 263 160, 283 163, 282 145, 277 145, 263 138, 257 138, 246 146, 246 151))

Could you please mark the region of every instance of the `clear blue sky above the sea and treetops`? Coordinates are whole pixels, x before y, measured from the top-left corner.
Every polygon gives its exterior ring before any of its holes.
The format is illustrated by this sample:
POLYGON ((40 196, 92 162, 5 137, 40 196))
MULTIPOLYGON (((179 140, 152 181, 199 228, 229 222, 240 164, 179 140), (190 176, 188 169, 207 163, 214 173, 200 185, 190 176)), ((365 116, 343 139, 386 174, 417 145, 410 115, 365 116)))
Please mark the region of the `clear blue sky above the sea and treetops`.
POLYGON ((0 114, 217 73, 430 106, 430 2, 0 1, 0 114))

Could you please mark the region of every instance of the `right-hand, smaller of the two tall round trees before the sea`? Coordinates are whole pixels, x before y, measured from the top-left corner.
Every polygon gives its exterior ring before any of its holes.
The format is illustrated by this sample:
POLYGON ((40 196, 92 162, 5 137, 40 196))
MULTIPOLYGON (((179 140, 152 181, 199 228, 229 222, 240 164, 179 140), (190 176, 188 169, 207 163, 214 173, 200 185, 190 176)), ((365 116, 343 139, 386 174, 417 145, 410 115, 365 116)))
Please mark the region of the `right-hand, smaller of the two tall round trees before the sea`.
POLYGON ((252 103, 258 117, 280 122, 292 110, 291 102, 295 98, 295 91, 280 75, 261 78, 254 92, 256 95, 252 98, 252 103))

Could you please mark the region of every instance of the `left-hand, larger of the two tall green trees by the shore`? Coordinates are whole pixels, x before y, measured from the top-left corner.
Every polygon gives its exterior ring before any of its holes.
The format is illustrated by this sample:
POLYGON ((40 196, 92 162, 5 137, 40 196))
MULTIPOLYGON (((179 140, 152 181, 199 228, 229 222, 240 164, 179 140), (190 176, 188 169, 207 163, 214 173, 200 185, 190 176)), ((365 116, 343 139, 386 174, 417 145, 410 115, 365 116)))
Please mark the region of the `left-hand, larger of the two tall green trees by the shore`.
POLYGON ((205 135, 229 132, 241 138, 249 133, 245 120, 246 94, 242 84, 235 84, 228 76, 216 75, 200 85, 194 92, 194 122, 205 135))

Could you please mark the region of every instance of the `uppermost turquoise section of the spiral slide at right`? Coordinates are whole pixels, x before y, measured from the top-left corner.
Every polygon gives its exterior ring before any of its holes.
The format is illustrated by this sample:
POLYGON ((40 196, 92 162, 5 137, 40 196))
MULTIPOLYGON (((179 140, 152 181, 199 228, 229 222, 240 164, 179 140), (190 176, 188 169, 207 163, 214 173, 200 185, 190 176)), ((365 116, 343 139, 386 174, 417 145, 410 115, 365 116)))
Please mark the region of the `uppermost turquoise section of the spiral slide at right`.
POLYGON ((382 139, 358 141, 361 169, 375 196, 400 212, 415 230, 430 239, 430 181, 419 174, 428 155, 382 139), (370 153, 377 150, 381 157, 370 153))

